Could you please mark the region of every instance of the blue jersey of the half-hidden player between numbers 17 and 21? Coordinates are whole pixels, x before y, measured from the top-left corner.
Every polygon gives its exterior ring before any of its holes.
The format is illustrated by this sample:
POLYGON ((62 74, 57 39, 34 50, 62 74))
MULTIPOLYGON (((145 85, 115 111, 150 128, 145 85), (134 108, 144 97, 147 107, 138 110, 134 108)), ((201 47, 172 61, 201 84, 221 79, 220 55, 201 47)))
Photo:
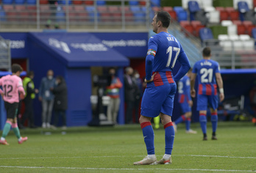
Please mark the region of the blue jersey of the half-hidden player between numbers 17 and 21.
POLYGON ((191 79, 184 76, 179 80, 179 103, 184 103, 191 100, 191 79))

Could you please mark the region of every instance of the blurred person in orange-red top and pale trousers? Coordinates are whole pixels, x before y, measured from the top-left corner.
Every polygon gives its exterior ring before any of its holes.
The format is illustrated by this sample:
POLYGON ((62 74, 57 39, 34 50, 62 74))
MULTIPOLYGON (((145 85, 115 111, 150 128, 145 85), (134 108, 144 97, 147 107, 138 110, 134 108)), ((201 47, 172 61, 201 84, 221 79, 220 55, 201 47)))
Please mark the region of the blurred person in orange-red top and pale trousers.
POLYGON ((110 103, 107 106, 107 120, 116 124, 116 118, 120 106, 119 89, 123 87, 120 79, 115 76, 115 68, 111 67, 109 74, 112 78, 110 86, 107 87, 107 95, 110 96, 110 103))

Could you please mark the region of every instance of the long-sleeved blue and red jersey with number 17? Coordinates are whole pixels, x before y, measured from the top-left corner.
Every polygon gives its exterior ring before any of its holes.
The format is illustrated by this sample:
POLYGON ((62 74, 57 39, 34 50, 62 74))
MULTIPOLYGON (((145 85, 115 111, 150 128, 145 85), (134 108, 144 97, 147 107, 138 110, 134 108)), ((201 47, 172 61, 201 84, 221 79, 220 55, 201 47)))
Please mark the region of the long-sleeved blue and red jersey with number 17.
MULTIPOLYGON (((167 32, 160 32, 149 39, 146 57, 146 79, 150 79, 154 72, 154 81, 147 87, 157 87, 174 83, 172 70, 176 62, 190 67, 188 57, 179 41, 167 32), (150 59, 150 62, 148 61, 150 59), (151 63, 153 62, 153 65, 151 63)), ((187 71, 184 72, 185 75, 187 71)))

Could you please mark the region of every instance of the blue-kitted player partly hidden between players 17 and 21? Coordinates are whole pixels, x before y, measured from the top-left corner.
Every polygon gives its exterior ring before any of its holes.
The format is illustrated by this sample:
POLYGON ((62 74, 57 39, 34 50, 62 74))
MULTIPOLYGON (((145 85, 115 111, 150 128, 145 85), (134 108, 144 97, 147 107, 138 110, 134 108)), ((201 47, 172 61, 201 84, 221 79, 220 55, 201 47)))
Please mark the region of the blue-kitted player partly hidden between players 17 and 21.
POLYGON ((178 83, 179 104, 183 114, 173 123, 173 125, 175 132, 177 132, 177 125, 180 122, 185 122, 186 133, 196 134, 197 132, 191 129, 191 106, 193 106, 193 101, 191 99, 191 71, 192 69, 190 69, 178 83))

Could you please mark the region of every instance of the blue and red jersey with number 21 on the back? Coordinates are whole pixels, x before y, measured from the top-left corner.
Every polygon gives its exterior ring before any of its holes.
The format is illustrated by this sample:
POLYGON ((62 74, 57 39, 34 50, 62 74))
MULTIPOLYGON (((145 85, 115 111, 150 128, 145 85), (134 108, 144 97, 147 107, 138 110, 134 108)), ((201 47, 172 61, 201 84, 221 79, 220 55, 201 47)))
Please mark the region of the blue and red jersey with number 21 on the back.
POLYGON ((193 65, 192 73, 198 77, 199 95, 217 95, 216 73, 220 73, 218 62, 202 59, 193 65))

